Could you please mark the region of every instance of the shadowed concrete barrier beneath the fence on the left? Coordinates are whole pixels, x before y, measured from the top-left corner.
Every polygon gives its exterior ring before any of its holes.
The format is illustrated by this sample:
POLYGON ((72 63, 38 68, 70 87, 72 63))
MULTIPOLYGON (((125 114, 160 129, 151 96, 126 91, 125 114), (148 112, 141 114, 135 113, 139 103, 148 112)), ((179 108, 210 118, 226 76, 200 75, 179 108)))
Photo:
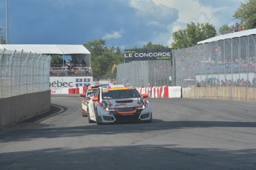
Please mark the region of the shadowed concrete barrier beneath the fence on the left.
POLYGON ((0 98, 0 128, 22 122, 50 110, 50 90, 0 98))

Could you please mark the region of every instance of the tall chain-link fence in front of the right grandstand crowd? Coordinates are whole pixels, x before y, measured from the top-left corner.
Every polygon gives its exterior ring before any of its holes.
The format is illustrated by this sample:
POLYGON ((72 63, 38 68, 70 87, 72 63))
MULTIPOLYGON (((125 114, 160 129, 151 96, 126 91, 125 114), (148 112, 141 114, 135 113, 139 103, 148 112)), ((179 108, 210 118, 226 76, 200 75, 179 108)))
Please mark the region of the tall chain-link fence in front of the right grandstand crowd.
POLYGON ((256 35, 174 50, 174 86, 256 87, 256 35))

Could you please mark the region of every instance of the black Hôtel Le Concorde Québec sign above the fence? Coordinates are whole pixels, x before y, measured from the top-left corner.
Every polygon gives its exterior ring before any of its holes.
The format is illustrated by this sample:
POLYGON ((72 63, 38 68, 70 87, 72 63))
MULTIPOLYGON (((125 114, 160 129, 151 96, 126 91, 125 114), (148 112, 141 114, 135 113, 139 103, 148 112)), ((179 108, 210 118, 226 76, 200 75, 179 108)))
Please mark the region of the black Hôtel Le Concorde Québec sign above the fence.
POLYGON ((171 60, 171 48, 125 50, 125 62, 171 60))

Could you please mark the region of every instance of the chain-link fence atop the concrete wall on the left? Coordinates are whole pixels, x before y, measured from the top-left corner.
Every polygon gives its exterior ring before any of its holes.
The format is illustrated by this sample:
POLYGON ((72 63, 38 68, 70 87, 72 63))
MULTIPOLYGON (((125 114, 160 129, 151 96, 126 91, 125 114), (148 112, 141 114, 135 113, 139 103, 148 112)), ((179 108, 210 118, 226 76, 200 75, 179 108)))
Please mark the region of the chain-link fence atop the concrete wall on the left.
POLYGON ((0 50, 0 98, 49 90, 50 56, 0 50))

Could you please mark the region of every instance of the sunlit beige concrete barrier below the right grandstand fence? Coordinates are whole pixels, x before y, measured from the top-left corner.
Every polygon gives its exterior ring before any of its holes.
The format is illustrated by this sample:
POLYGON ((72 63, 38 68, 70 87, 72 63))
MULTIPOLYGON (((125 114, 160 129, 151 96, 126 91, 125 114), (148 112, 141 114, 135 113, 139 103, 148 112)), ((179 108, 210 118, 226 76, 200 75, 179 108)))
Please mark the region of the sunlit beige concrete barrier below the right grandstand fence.
POLYGON ((183 98, 256 101, 256 88, 237 86, 182 87, 183 98))

